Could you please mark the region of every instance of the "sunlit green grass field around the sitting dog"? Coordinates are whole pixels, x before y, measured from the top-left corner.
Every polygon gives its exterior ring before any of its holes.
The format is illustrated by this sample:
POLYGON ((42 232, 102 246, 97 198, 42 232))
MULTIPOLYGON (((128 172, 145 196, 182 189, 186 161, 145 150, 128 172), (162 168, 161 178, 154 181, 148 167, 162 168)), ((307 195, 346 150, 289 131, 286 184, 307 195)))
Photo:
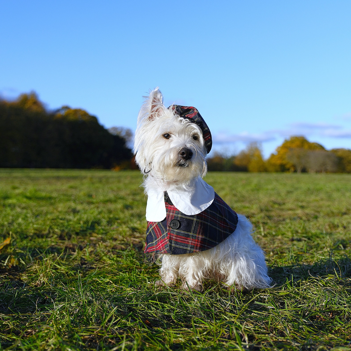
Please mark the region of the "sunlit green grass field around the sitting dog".
POLYGON ((272 289, 153 285, 137 171, 0 170, 1 350, 349 350, 351 175, 209 173, 272 289))

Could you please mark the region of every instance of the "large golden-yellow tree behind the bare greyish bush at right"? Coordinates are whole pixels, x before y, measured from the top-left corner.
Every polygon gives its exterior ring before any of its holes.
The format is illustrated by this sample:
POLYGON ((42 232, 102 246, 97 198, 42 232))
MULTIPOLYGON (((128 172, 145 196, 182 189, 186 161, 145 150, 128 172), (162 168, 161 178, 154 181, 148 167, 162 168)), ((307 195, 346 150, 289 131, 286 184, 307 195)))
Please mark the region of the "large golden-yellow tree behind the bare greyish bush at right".
POLYGON ((295 166, 287 160, 287 155, 291 149, 305 149, 305 150, 325 150, 325 148, 317 143, 311 143, 305 137, 290 137, 285 139, 284 143, 276 148, 276 153, 272 153, 267 160, 267 168, 271 172, 294 172, 295 166))

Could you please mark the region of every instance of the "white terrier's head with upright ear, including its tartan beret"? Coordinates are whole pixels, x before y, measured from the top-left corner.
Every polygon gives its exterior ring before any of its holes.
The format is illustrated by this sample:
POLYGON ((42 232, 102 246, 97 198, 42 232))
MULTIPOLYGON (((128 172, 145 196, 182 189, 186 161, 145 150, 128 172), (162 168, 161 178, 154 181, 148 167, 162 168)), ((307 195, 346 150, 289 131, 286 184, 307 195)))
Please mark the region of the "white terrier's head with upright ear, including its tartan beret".
POLYGON ((158 88, 146 97, 134 139, 135 161, 142 173, 180 184, 205 175, 211 133, 196 109, 191 118, 182 108, 166 108, 158 88))

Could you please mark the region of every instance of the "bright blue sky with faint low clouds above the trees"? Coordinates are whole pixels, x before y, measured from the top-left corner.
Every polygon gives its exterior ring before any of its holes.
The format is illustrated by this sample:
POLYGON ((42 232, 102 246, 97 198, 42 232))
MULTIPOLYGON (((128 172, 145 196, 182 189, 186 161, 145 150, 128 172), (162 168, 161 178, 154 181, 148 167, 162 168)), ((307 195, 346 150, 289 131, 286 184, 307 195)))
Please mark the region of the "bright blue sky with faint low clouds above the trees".
POLYGON ((351 1, 0 0, 0 94, 135 130, 142 95, 195 106, 214 149, 351 148, 351 1))

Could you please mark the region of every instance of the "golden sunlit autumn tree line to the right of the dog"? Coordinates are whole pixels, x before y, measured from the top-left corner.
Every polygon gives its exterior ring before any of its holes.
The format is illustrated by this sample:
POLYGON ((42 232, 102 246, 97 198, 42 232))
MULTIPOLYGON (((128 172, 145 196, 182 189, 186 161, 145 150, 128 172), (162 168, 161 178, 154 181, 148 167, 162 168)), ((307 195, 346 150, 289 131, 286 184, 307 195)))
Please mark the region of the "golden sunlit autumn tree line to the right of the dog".
POLYGON ((207 163, 209 171, 351 173, 351 150, 326 150, 305 137, 293 136, 284 140, 267 160, 260 145, 251 143, 237 155, 214 154, 207 163))

